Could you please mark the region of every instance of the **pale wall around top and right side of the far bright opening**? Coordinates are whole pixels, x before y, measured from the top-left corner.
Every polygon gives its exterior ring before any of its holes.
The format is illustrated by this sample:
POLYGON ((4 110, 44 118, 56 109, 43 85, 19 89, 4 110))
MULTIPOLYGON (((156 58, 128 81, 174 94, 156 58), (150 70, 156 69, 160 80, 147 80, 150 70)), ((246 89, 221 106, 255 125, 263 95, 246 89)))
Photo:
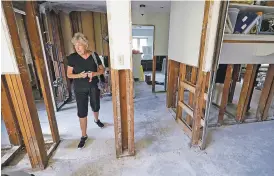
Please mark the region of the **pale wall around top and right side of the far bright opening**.
POLYGON ((165 56, 168 54, 168 34, 169 34, 169 13, 155 12, 145 13, 141 16, 139 12, 132 12, 132 24, 154 25, 155 26, 155 56, 165 56))

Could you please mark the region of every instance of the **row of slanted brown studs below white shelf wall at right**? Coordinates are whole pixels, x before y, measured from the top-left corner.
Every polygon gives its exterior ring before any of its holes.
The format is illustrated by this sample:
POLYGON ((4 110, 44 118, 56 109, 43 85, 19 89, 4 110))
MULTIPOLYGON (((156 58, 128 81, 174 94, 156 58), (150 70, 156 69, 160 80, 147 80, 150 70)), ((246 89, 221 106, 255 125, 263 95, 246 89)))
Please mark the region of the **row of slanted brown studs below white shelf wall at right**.
MULTIPOLYGON (((235 118, 235 121, 238 123, 245 122, 247 117, 246 113, 248 112, 248 106, 251 102, 251 97, 252 97, 252 93, 255 86, 254 82, 256 80, 255 78, 258 73, 258 65, 247 64, 246 72, 244 74, 244 80, 241 88, 241 93, 240 93, 239 101, 237 104, 236 115, 234 116, 233 114, 231 114, 231 112, 228 112, 226 110, 226 106, 232 103, 233 94, 231 95, 230 98, 228 96, 229 96, 229 90, 235 89, 234 87, 235 85, 233 84, 234 82, 238 80, 238 76, 237 76, 239 74, 238 67, 239 66, 236 64, 235 65, 230 64, 227 67, 224 88, 222 92, 221 106, 218 107, 219 108, 218 122, 220 125, 224 124, 223 120, 224 120, 225 114, 228 116, 233 116, 235 118), (236 73, 234 72, 235 70, 233 70, 233 67, 234 69, 237 69, 236 73)), ((254 115, 256 117, 255 121, 262 121, 262 120, 268 119, 269 109, 274 96, 273 80, 274 80, 274 66, 273 64, 270 64, 266 74, 264 86, 261 91, 257 112, 256 112, 256 115, 254 115)))

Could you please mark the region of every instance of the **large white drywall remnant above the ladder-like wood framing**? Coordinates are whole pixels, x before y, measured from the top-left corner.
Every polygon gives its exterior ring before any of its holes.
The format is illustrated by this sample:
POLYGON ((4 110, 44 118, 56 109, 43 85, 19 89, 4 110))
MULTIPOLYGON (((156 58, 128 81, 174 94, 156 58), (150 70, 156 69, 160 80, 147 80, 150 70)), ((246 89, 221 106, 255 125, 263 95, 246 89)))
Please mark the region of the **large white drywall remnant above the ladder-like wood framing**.
POLYGON ((204 1, 171 2, 169 59, 198 66, 204 4, 204 1))

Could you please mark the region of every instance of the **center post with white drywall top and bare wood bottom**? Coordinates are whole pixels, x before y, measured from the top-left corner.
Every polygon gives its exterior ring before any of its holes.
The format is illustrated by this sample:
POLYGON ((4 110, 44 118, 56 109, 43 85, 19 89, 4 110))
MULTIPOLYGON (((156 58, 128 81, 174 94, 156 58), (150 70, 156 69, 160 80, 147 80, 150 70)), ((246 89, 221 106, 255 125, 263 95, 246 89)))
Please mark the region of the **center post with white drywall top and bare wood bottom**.
POLYGON ((128 42, 131 39, 131 3, 130 1, 112 2, 107 1, 107 19, 110 32, 110 56, 111 56, 111 83, 112 83, 112 102, 114 115, 115 148, 116 156, 132 156, 135 154, 134 147, 134 104, 133 104, 133 74, 132 74, 132 55, 128 42), (120 7, 124 8, 121 13, 120 7), (129 15, 129 16, 127 16, 129 15), (117 26, 116 26, 117 25, 117 26), (120 34, 119 27, 125 27, 126 42, 116 42, 113 38, 120 34), (121 46, 122 45, 122 46, 121 46), (121 47, 121 48, 120 48, 121 47), (123 48, 122 48, 123 47, 123 48), (117 56, 116 50, 121 49, 117 56), (128 49, 128 50, 127 50, 128 49), (124 50, 124 51, 123 51, 124 50), (129 59, 129 67, 124 62, 116 63, 120 59, 129 59), (120 64, 120 65, 119 65, 120 64), (121 66, 121 69, 119 66, 121 66), (130 69, 131 68, 131 69, 130 69))

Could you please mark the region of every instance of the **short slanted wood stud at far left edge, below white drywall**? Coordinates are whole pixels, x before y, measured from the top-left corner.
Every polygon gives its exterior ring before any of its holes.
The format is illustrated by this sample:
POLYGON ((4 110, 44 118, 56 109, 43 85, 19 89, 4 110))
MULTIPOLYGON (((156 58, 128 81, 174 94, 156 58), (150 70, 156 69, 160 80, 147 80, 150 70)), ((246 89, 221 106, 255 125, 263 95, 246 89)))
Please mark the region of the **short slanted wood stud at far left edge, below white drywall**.
POLYGON ((22 145, 22 134, 16 118, 7 81, 3 75, 1 76, 1 113, 9 135, 10 143, 15 146, 22 145))

